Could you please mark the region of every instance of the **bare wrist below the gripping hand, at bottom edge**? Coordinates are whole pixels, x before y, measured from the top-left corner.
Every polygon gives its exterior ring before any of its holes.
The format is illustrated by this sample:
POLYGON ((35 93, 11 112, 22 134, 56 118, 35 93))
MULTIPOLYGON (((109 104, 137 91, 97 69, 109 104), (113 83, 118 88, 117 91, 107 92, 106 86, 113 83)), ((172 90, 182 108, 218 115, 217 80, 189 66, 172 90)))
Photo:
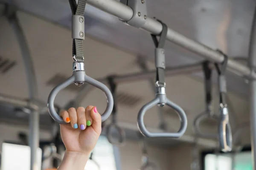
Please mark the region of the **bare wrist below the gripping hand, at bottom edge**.
POLYGON ((58 170, 84 170, 90 153, 66 151, 58 170))

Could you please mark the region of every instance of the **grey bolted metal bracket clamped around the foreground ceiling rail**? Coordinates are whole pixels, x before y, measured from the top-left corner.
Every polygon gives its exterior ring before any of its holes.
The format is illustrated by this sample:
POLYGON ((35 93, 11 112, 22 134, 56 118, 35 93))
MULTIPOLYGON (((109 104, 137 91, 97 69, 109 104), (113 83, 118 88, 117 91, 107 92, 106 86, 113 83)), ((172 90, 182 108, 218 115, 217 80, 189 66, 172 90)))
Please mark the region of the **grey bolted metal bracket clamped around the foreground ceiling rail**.
POLYGON ((131 7, 133 10, 131 20, 128 20, 125 23, 136 28, 143 27, 147 19, 146 0, 120 0, 120 2, 131 7))

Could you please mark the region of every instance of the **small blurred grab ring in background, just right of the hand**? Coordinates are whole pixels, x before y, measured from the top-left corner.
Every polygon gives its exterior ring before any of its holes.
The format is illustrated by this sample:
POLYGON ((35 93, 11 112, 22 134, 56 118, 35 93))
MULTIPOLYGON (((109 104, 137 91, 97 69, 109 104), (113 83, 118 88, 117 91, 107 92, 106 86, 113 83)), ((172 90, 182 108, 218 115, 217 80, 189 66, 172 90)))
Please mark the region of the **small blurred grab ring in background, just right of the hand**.
POLYGON ((106 133, 107 133, 108 142, 110 142, 111 144, 114 144, 116 146, 123 146, 125 144, 125 130, 120 128, 118 125, 116 125, 116 124, 107 125, 106 131, 107 131, 106 133), (112 135, 113 133, 111 133, 112 129, 117 130, 118 136, 119 136, 118 140, 115 140, 113 138, 113 135, 112 135))

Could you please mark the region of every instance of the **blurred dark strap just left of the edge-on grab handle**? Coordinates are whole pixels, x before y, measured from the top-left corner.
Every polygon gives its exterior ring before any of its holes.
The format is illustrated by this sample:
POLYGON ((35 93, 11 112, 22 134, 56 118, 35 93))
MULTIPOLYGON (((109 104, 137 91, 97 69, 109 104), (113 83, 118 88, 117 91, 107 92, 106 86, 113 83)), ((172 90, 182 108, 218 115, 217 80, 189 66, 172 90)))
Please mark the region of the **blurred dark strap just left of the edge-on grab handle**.
POLYGON ((212 69, 209 68, 209 61, 204 61, 202 66, 203 66, 203 71, 204 71, 204 83, 205 83, 205 94, 206 94, 206 103, 209 104, 212 101, 212 82, 211 82, 211 77, 212 77, 212 69))

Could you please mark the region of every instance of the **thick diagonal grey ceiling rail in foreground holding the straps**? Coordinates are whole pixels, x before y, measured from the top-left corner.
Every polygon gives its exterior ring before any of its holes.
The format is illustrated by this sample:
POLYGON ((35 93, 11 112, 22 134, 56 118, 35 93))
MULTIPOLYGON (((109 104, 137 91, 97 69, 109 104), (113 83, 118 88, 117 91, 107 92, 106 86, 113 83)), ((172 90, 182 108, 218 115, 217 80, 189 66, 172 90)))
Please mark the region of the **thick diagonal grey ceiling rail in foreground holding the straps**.
MULTIPOLYGON (((116 0, 87 0, 87 3, 91 6, 99 8, 102 11, 112 14, 123 21, 129 21, 133 17, 132 8, 116 0)), ((155 35, 160 34, 162 28, 163 27, 160 22, 150 17, 147 17, 145 25, 142 27, 143 30, 155 35)), ((216 51, 215 49, 209 48, 199 42, 191 40, 183 36, 182 34, 177 33, 171 28, 168 28, 167 40, 189 51, 199 54, 208 60, 218 63, 224 61, 224 56, 220 52, 216 51)), ((227 67, 227 69, 234 74, 256 79, 256 73, 254 71, 250 71, 250 68, 240 64, 239 62, 236 62, 233 59, 228 60, 227 67)))

